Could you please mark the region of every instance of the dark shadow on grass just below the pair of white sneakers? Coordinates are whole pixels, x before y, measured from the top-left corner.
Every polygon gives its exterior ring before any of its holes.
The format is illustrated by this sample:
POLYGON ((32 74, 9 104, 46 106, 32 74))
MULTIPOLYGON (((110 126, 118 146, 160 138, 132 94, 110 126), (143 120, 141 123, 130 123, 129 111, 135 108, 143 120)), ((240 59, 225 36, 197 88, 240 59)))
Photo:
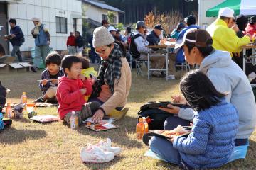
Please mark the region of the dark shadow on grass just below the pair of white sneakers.
POLYGON ((120 162, 122 159, 124 159, 123 156, 115 156, 114 159, 111 162, 106 162, 104 164, 85 164, 87 168, 89 169, 110 169, 111 166, 114 164, 117 164, 117 162, 120 162))

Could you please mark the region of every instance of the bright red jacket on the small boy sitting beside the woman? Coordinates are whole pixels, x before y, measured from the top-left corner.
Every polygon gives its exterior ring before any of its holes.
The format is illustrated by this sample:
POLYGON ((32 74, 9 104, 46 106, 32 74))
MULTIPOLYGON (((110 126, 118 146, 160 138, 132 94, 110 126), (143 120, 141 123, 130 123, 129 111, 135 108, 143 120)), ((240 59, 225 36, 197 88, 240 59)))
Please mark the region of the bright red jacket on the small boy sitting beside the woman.
POLYGON ((57 94, 58 113, 63 120, 65 115, 71 111, 81 111, 82 105, 86 103, 84 95, 80 89, 86 88, 85 96, 92 93, 92 83, 90 80, 82 81, 81 79, 68 79, 60 77, 58 82, 57 94))

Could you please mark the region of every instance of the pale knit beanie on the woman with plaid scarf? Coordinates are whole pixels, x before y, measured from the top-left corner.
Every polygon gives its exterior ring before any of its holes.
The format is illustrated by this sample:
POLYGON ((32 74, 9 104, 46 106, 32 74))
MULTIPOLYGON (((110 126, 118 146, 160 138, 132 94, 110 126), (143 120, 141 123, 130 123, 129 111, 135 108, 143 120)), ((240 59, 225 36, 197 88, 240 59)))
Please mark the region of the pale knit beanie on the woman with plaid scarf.
POLYGON ((92 45, 93 47, 102 47, 106 45, 110 45, 114 42, 113 36, 110 34, 110 32, 105 27, 98 27, 95 28, 93 31, 93 39, 92 39, 92 45))

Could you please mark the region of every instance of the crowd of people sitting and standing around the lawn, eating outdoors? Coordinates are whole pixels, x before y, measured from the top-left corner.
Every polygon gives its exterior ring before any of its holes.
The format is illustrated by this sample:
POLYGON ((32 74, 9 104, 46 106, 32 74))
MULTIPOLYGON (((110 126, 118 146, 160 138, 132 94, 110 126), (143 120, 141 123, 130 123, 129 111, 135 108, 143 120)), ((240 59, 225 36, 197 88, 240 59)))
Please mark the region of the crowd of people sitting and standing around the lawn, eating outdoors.
MULTIPOLYGON (((152 134, 143 137, 150 149, 164 160, 186 169, 216 168, 229 161, 235 147, 248 145, 256 125, 255 96, 250 85, 250 81, 256 79, 256 70, 254 65, 247 64, 249 71, 246 74, 242 71, 240 52, 255 36, 256 16, 247 21, 242 15, 235 18, 233 9, 221 8, 216 21, 206 30, 196 25, 194 16, 188 16, 169 36, 176 40, 176 60, 186 60, 200 67, 181 79, 182 95, 173 97, 174 103, 188 107, 159 108, 170 113, 164 129, 192 125, 188 137, 176 136, 171 140, 152 134)), ((15 20, 9 23, 13 52, 22 60, 19 50, 22 30, 15 20), (16 39, 20 43, 16 43, 16 39)), ((102 58, 98 77, 92 79, 81 74, 82 69, 89 67, 89 61, 75 55, 82 50, 78 31, 75 36, 70 33, 67 40, 70 55, 61 59, 56 52, 48 54, 50 34, 46 26, 38 18, 33 18, 33 23, 35 28, 31 33, 35 38, 37 59, 33 69, 38 68, 38 56, 43 57, 46 64, 40 81, 43 95, 35 102, 57 100, 60 119, 67 125, 70 125, 72 111, 78 115, 80 124, 89 117, 95 123, 105 115, 123 118, 128 111, 125 103, 132 84, 127 55, 147 60, 147 46, 159 45, 163 38, 162 26, 158 24, 147 33, 144 21, 138 21, 134 32, 127 27, 123 36, 120 30, 103 20, 91 40, 92 52, 102 58)), ((153 69, 164 68, 164 57, 150 60, 153 69)), ((152 76, 164 77, 165 74, 154 71, 152 76)))

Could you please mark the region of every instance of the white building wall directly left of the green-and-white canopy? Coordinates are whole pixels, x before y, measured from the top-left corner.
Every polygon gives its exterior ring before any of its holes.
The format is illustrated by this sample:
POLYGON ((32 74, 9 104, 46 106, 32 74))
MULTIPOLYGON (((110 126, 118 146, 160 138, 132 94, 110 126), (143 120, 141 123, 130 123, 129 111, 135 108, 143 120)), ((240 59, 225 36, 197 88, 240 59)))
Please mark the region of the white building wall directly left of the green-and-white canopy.
POLYGON ((206 11, 218 4, 222 3, 225 0, 198 0, 198 18, 199 26, 201 28, 206 28, 209 26, 217 17, 206 17, 206 11))

